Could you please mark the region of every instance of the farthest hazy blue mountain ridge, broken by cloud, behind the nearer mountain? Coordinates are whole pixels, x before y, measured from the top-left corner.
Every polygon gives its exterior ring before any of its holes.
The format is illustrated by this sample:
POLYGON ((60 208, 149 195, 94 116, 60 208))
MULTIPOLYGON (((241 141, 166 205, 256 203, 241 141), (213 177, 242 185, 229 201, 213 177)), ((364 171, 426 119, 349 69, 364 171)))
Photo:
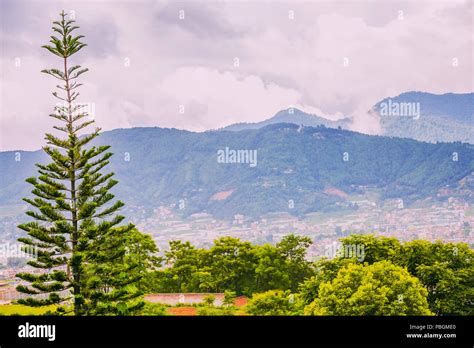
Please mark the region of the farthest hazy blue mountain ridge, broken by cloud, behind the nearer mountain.
MULTIPOLYGON (((372 111, 380 116, 382 135, 432 143, 461 141, 474 144, 474 93, 436 95, 407 92, 381 100, 374 105, 372 111), (387 103, 401 105, 402 108, 404 105, 415 103, 415 106, 419 107, 419 115, 418 117, 416 115, 407 117, 403 114, 381 115, 381 108, 387 103)), ((237 123, 222 129, 230 131, 258 129, 282 122, 310 127, 324 125, 329 128, 349 129, 352 118, 347 116, 338 121, 331 121, 298 109, 287 109, 262 122, 237 123)))

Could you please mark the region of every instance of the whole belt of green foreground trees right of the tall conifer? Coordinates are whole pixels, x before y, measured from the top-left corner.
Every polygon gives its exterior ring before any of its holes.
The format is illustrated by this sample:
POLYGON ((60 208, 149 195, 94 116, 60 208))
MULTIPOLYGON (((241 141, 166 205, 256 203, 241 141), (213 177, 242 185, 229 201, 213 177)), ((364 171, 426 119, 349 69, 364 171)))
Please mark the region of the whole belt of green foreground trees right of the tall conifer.
MULTIPOLYGON (((341 241, 363 248, 364 257, 309 262, 309 240, 295 235, 275 246, 224 237, 209 250, 173 241, 168 267, 150 273, 148 291, 226 291, 222 308, 234 314, 230 291, 251 297, 243 310, 250 315, 474 314, 474 251, 466 244, 373 235, 341 241)), ((202 315, 224 315, 213 311, 213 301, 201 307, 202 315)))

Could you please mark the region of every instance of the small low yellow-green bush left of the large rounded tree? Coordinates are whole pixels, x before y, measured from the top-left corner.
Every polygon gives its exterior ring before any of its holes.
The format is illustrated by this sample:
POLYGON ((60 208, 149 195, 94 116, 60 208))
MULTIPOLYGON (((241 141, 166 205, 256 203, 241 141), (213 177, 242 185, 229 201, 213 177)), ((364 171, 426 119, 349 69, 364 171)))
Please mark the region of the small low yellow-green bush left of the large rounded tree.
POLYGON ((247 313, 252 315, 296 315, 294 295, 289 290, 269 290, 254 294, 247 303, 247 313))

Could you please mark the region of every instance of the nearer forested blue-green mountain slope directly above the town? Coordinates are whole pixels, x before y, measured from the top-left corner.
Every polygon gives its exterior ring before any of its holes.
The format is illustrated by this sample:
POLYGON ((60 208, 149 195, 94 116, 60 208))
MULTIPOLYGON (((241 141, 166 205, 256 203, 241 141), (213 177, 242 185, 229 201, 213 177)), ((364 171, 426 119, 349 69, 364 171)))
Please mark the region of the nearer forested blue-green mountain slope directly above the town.
MULTIPOLYGON (((325 127, 275 124, 240 132, 193 133, 176 129, 132 128, 104 132, 96 144, 110 144, 117 196, 129 206, 152 210, 183 204, 182 213, 206 211, 217 217, 260 216, 335 208, 345 194, 367 188, 383 199, 410 200, 434 195, 474 171, 469 144, 429 144, 368 136, 325 127), (219 163, 219 151, 256 151, 256 165, 219 163), (457 161, 453 161, 457 153, 457 161), (344 160, 346 159, 346 161, 344 160)), ((41 151, 0 153, 0 204, 28 196, 24 179, 35 174, 41 151)), ((231 157, 227 157, 231 159, 231 157)), ((244 158, 245 159, 245 158, 244 158)))

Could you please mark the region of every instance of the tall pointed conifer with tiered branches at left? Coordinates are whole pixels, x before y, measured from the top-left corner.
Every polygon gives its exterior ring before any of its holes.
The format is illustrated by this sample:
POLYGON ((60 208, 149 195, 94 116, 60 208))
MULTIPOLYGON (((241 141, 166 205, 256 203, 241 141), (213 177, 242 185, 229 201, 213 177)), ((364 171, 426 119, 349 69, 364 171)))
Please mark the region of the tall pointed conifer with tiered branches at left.
MULTIPOLYGON (((95 301, 97 291, 87 287, 87 279, 93 270, 99 268, 97 262, 116 259, 115 273, 120 273, 119 261, 124 255, 107 249, 115 245, 117 239, 131 233, 134 226, 119 226, 123 216, 115 213, 124 204, 113 202, 114 195, 109 190, 117 184, 114 173, 103 174, 101 170, 109 163, 112 153, 109 146, 88 146, 99 135, 99 128, 80 136, 80 131, 94 123, 89 119, 84 105, 76 102, 81 86, 78 78, 88 69, 71 65, 70 57, 86 46, 82 35, 74 35, 78 26, 67 18, 64 11, 60 20, 53 22, 54 35, 51 45, 43 46, 61 59, 61 67, 43 70, 59 81, 58 91, 53 96, 61 101, 50 115, 62 125, 54 126, 64 137, 46 134, 47 145, 43 150, 49 155, 49 164, 37 164, 38 177, 26 181, 33 185, 35 198, 24 200, 32 206, 27 215, 34 221, 19 225, 27 236, 19 238, 25 248, 35 248, 36 256, 30 266, 43 269, 41 274, 20 273, 18 277, 25 283, 18 291, 33 295, 19 302, 31 306, 60 304, 73 297, 75 315, 87 314, 88 306, 95 301), (55 36, 57 35, 57 36, 55 36), (100 257, 99 257, 100 255, 100 257), (43 295, 40 299, 38 296, 43 295)), ((122 243, 123 246, 123 243, 122 243)), ((123 250, 121 247, 120 250, 123 250)), ((124 266, 123 270, 126 270, 124 266)), ((119 288, 123 284, 117 285, 119 288)), ((95 289, 97 290, 97 289, 95 289)), ((103 289, 104 293, 114 292, 115 284, 103 289)), ((120 302, 120 294, 127 299, 129 294, 115 292, 115 300, 120 302)))

